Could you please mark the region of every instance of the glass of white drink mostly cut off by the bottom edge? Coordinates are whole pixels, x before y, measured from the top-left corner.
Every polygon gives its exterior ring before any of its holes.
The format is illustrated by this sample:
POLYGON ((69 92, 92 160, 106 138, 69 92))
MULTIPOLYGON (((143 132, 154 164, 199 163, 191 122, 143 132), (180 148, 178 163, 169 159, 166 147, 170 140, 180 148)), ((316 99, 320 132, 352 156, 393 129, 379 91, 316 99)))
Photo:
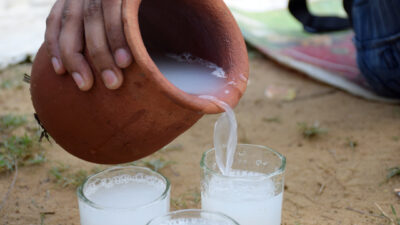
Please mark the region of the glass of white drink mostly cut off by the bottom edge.
POLYGON ((186 209, 151 220, 147 225, 239 225, 232 218, 217 212, 186 209))

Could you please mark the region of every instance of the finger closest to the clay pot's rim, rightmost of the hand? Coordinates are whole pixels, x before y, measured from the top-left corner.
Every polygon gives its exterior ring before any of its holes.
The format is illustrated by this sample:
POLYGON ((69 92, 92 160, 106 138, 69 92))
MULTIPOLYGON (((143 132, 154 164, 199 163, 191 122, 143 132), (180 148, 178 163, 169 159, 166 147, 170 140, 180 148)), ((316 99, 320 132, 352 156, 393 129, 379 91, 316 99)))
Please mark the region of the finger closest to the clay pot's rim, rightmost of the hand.
POLYGON ((125 39, 122 24, 122 0, 103 0, 104 23, 114 61, 120 68, 132 63, 132 55, 125 39))

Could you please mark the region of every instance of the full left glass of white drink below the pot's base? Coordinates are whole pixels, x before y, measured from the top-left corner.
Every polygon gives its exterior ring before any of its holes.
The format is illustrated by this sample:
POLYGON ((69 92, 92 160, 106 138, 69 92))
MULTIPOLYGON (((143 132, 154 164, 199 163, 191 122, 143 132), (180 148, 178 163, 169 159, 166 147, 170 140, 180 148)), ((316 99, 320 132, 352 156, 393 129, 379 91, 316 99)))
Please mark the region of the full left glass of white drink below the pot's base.
POLYGON ((170 183, 148 168, 113 167, 78 188, 81 225, 145 225, 170 207, 170 183))

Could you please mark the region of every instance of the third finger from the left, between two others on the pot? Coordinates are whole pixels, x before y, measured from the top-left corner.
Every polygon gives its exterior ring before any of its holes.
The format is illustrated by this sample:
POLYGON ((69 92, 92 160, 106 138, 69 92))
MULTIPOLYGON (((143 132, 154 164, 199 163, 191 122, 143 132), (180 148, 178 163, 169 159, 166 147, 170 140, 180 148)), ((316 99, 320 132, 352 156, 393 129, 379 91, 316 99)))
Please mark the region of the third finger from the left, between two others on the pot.
POLYGON ((84 2, 85 40, 89 55, 95 69, 101 73, 106 87, 117 89, 123 82, 123 76, 121 70, 114 63, 108 47, 102 1, 85 0, 84 2))

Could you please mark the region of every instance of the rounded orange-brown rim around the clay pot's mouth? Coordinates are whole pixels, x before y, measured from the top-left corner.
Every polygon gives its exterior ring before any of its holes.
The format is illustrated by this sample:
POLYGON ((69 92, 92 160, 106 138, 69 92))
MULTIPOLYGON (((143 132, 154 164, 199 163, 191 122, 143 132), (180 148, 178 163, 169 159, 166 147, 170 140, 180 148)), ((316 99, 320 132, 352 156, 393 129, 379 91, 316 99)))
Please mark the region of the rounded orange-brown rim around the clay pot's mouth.
MULTIPOLYGON (((212 2, 214 4, 214 7, 222 7, 222 9, 226 11, 226 13, 221 13, 220 15, 218 15, 221 18, 221 21, 225 21, 227 24, 231 24, 230 22, 231 20, 235 21, 232 13, 222 0, 213 0, 212 2)), ((173 102, 177 103, 178 105, 184 108, 189 108, 193 111, 197 111, 199 113, 204 113, 204 114, 217 114, 224 112, 224 109, 216 105, 214 102, 204 98, 199 98, 198 95, 192 95, 186 93, 180 90, 179 88, 175 87, 160 72, 154 61, 151 59, 142 39, 139 26, 139 18, 138 18, 139 8, 141 3, 142 0, 123 0, 122 17, 124 23, 124 32, 126 40, 128 42, 128 46, 133 54, 135 62, 142 69, 142 72, 144 72, 145 74, 151 74, 149 78, 154 81, 155 85, 157 85, 160 88, 160 90, 173 102)), ((236 24, 236 22, 234 23, 234 26, 229 27, 229 29, 225 29, 224 31, 232 34, 228 36, 234 36, 237 34, 241 35, 240 29, 236 24)), ((243 36, 241 36, 241 39, 243 40, 242 45, 244 46, 244 52, 246 53, 246 47, 243 36)), ((242 48, 243 46, 237 46, 237 47, 235 46, 235 47, 237 48, 238 51, 240 51, 240 48, 242 48)), ((241 59, 237 61, 242 61, 243 58, 244 57, 241 57, 241 59)), ((229 91, 233 92, 231 93, 231 95, 233 96, 220 98, 220 95, 218 95, 220 100, 225 101, 232 108, 238 104, 239 99, 246 90, 247 79, 249 76, 247 54, 245 54, 245 58, 246 58, 246 63, 244 63, 244 66, 242 67, 247 67, 247 68, 244 69, 243 74, 239 75, 245 79, 242 80, 238 79, 239 84, 236 84, 229 88, 229 91)))

